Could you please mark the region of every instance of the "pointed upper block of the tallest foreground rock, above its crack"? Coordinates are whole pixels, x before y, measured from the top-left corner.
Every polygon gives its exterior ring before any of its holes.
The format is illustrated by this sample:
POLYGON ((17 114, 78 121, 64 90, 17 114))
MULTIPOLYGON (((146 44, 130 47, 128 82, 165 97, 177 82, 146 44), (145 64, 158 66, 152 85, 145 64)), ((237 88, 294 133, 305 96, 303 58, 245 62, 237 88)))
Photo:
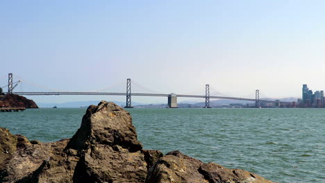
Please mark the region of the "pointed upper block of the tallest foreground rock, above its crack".
POLYGON ((90 144, 119 145, 130 152, 142 150, 130 113, 115 103, 106 101, 101 101, 98 106, 88 107, 81 128, 74 134, 66 149, 88 149, 90 144))

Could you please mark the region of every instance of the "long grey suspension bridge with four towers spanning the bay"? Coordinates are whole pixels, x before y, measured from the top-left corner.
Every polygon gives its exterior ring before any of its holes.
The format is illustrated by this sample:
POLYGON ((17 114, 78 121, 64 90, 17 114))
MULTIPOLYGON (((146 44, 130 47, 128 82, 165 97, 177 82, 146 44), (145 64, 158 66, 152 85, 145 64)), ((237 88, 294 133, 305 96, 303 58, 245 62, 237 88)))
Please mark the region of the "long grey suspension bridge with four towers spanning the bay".
POLYGON ((205 95, 190 95, 190 94, 154 94, 154 93, 132 93, 131 92, 131 78, 126 80, 126 92, 13 92, 15 87, 21 82, 18 80, 13 82, 12 73, 8 73, 8 85, 2 87, 8 87, 8 92, 6 94, 18 94, 22 96, 81 96, 81 95, 93 95, 93 96, 126 96, 126 105, 125 108, 132 108, 131 105, 131 96, 160 96, 167 97, 167 106, 169 108, 177 108, 177 98, 205 98, 206 105, 205 108, 210 108, 210 99, 228 99, 228 100, 237 100, 237 101, 255 101, 255 107, 261 107, 260 103, 274 103, 276 107, 281 105, 291 105, 294 107, 295 103, 292 102, 283 102, 283 101, 271 101, 271 100, 261 100, 260 99, 260 90, 256 89, 255 98, 241 98, 241 97, 232 97, 232 96, 212 96, 210 95, 210 85, 206 85, 205 95))

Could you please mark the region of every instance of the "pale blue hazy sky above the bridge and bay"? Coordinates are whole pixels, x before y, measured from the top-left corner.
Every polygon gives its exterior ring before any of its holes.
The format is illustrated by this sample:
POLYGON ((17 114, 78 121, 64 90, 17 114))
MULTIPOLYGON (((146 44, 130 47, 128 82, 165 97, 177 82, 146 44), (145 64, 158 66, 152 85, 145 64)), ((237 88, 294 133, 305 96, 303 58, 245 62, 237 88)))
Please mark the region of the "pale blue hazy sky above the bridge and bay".
POLYGON ((251 98, 325 89, 325 1, 1 1, 0 40, 0 87, 12 72, 26 80, 17 91, 41 91, 34 82, 124 92, 126 78, 176 94, 204 94, 206 84, 251 98))

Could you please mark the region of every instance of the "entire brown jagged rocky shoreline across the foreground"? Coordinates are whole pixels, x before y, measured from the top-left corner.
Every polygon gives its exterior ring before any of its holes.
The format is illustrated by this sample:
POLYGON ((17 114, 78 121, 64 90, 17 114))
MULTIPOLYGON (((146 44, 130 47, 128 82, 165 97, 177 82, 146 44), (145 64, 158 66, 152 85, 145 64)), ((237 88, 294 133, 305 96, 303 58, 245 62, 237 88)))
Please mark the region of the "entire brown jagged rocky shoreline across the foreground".
POLYGON ((0 128, 0 151, 0 182, 272 182, 177 150, 144 150, 131 115, 106 101, 88 107, 71 139, 28 141, 0 128))

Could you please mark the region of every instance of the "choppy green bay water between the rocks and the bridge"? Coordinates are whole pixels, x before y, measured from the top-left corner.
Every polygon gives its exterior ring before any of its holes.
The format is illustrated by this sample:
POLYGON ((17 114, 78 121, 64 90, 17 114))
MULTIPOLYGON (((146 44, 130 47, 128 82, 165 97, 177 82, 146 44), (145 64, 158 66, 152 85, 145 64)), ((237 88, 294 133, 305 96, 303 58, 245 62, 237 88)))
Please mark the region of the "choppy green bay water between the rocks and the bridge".
MULTIPOLYGON (((325 109, 128 109, 144 149, 182 153, 275 182, 325 182, 325 109)), ((71 138, 85 109, 0 113, 0 127, 71 138)))

